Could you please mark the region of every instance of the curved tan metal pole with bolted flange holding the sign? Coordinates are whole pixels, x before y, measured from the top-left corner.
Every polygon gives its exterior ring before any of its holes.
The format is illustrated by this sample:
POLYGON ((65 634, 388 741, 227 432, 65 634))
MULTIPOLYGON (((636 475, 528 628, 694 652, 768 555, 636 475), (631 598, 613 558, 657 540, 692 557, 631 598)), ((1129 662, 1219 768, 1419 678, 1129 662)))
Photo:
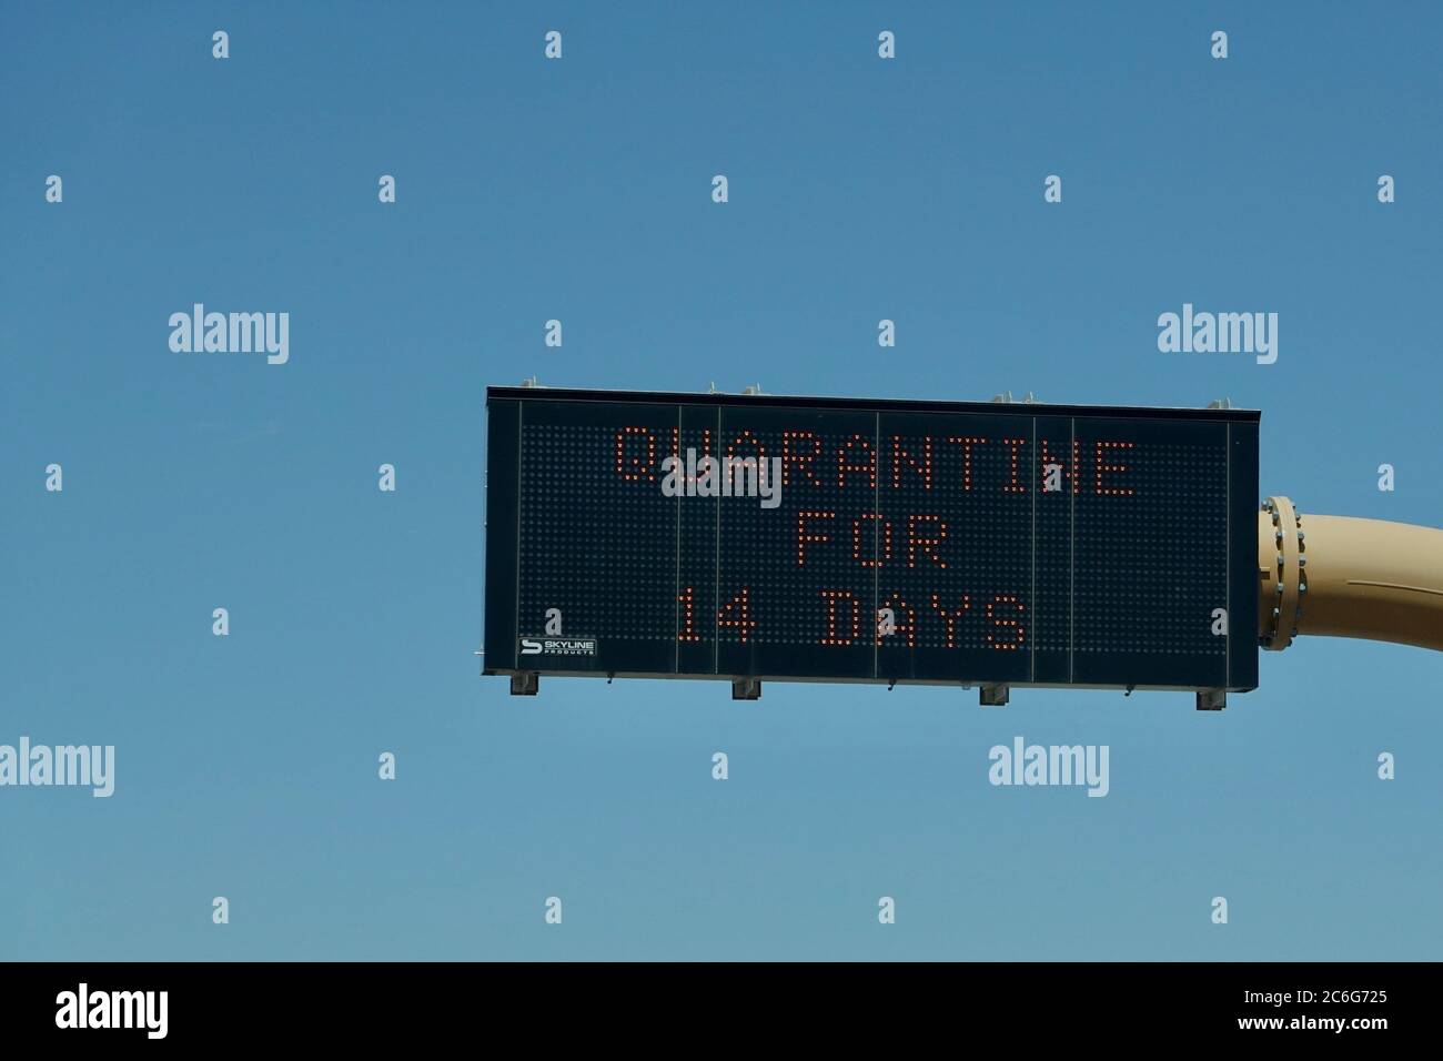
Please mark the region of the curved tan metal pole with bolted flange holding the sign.
POLYGON ((1258 631, 1264 648, 1300 634, 1443 651, 1443 530, 1297 512, 1258 512, 1258 631))

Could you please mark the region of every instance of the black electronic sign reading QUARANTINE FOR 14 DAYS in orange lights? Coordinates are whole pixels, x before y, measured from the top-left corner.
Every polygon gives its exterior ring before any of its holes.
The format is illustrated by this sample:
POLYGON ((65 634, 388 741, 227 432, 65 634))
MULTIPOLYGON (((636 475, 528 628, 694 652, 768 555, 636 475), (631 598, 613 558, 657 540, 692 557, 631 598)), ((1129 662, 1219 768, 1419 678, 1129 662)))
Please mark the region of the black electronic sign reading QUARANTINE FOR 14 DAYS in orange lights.
POLYGON ((1257 684, 1257 411, 486 404, 488 674, 1257 684))

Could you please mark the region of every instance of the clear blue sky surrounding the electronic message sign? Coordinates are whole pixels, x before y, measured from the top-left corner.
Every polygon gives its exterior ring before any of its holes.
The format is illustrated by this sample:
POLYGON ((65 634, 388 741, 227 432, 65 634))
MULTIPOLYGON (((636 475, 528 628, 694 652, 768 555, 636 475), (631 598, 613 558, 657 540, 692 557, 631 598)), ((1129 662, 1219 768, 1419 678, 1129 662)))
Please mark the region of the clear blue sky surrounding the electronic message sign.
POLYGON ((472 652, 483 388, 530 375, 1228 396, 1266 494, 1443 525, 1440 32, 1421 3, 6 4, 0 743, 115 745, 117 788, 0 790, 0 959, 1439 959, 1437 654, 1304 639, 1214 715, 512 699, 472 652), (172 352, 193 302, 289 312, 290 362, 172 352), (1160 354, 1185 302, 1277 312, 1277 364, 1160 354), (990 787, 1014 735, 1110 745, 1111 794, 990 787))

